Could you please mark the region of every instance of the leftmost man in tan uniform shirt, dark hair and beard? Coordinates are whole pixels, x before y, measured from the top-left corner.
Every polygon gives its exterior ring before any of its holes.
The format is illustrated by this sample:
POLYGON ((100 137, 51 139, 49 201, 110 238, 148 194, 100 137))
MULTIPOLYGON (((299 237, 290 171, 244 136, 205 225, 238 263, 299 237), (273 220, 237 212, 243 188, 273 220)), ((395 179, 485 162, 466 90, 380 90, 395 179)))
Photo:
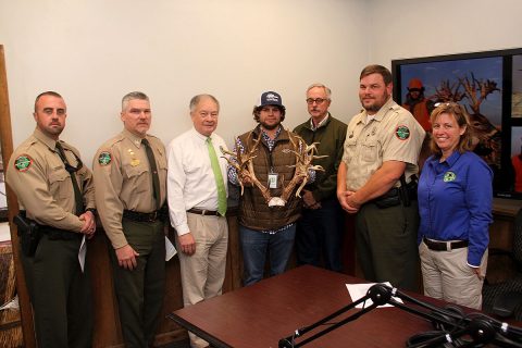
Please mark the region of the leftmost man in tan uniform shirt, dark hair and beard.
MULTIPOLYGON (((39 224, 41 233, 34 253, 20 253, 39 347, 91 347, 91 285, 88 265, 82 271, 78 252, 83 237, 90 238, 96 231, 95 192, 92 175, 78 150, 59 140, 66 116, 59 94, 39 95, 36 129, 13 152, 5 175, 22 219, 39 224)), ((24 240, 28 232, 22 229, 18 235, 24 240)))

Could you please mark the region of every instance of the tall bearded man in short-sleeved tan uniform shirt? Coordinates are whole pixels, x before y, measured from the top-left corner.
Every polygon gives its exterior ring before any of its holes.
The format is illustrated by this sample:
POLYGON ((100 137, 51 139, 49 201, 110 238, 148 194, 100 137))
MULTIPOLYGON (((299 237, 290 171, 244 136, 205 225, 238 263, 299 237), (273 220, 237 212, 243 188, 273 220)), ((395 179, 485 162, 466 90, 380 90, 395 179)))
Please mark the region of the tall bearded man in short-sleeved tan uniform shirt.
POLYGON ((415 175, 425 133, 391 99, 391 89, 386 67, 369 65, 361 72, 364 110, 348 125, 337 198, 348 213, 357 213, 356 246, 364 277, 417 290, 415 175))

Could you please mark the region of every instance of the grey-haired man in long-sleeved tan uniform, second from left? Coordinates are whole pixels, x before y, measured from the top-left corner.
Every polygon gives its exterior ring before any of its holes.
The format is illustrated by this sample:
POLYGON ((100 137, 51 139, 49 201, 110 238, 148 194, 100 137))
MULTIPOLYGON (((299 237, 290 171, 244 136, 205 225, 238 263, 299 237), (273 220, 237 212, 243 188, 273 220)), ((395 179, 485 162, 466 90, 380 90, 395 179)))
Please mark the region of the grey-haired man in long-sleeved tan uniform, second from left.
POLYGON ((103 144, 92 171, 100 220, 111 240, 120 321, 126 347, 149 347, 163 304, 165 235, 161 208, 166 197, 166 156, 147 134, 149 98, 129 92, 122 100, 122 133, 103 144), (153 162, 149 161, 148 148, 153 162), (159 187, 154 189, 154 173, 159 187))

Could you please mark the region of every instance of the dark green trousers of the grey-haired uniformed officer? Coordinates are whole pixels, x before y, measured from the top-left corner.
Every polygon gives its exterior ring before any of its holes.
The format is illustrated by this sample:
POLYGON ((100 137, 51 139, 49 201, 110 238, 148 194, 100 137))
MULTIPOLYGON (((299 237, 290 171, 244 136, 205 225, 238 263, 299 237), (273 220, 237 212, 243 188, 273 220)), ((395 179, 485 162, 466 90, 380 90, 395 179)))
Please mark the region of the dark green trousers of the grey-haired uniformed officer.
POLYGON ((127 348, 151 347, 163 307, 165 288, 165 235, 163 223, 123 219, 128 244, 139 253, 136 269, 119 265, 114 249, 111 261, 123 340, 127 348))

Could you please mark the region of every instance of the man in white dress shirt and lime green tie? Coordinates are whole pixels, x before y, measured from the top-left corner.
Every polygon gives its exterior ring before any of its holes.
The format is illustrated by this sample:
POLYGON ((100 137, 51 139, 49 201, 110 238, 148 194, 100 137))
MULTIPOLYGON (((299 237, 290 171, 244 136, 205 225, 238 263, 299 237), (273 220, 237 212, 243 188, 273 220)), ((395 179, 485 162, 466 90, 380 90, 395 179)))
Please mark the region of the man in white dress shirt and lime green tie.
MULTIPOLYGON (((213 134, 220 103, 210 95, 190 100, 194 127, 167 147, 167 196, 177 232, 184 306, 221 295, 225 277, 226 224, 225 141, 213 134)), ((191 347, 208 347, 194 334, 191 347)))

